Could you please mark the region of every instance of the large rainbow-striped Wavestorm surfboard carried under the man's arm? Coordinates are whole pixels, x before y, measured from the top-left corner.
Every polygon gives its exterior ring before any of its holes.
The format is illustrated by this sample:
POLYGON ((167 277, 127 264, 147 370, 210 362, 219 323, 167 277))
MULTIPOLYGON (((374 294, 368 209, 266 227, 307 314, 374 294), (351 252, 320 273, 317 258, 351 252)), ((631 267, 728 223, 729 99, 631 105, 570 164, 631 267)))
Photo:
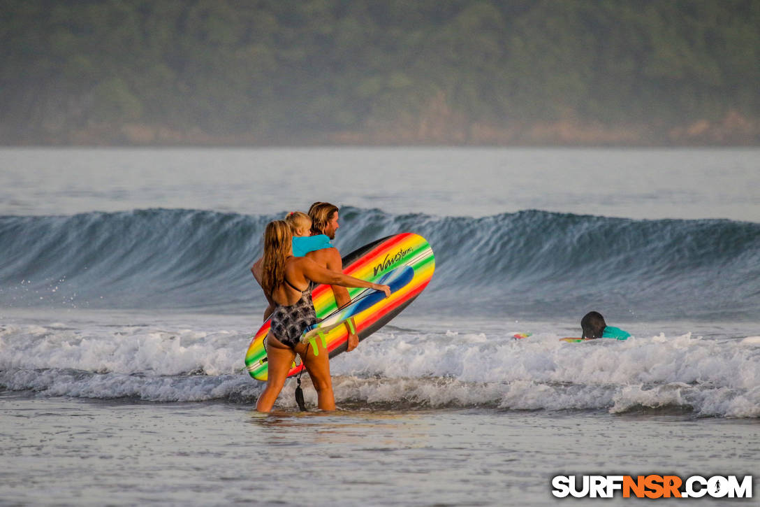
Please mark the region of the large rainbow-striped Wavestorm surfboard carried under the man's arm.
MULTIPOLYGON (((338 311, 329 285, 318 285, 312 291, 317 317, 325 319, 320 323, 319 339, 327 343, 331 358, 345 352, 348 341, 347 327, 331 325, 332 320, 343 322, 351 317, 359 341, 364 340, 388 324, 423 292, 435 271, 435 255, 425 238, 407 232, 373 241, 349 253, 343 258, 343 271, 355 278, 391 285, 393 292, 390 298, 385 298, 385 295, 377 297, 377 292, 369 289, 350 288, 351 304, 338 311)), ((253 336, 245 353, 245 368, 258 381, 267 380, 264 339, 268 332, 269 320, 253 336)), ((300 358, 296 356, 288 376, 298 374, 302 368, 300 358)))

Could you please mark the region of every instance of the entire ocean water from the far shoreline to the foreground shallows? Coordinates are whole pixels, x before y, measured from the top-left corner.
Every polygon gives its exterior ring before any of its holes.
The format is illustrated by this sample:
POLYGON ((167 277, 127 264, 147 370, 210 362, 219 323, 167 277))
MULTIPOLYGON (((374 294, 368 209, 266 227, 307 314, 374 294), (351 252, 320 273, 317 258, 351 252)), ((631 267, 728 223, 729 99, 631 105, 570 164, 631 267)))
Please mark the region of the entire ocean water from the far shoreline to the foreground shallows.
POLYGON ((2 148, 0 505, 556 505, 558 474, 756 478, 758 188, 754 148, 2 148), (262 416, 249 266, 314 200, 341 206, 342 253, 413 231, 436 273, 333 359, 340 410, 299 413, 289 381, 262 416), (560 342, 590 310, 634 336, 560 342))

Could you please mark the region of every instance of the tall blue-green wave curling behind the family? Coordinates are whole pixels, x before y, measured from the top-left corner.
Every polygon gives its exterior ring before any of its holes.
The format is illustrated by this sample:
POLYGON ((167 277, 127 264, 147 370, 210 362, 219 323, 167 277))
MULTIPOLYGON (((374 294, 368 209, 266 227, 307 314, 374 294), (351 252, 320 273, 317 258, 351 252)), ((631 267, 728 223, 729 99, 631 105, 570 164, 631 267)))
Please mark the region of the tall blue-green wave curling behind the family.
MULTIPOLYGON (((249 266, 279 215, 145 209, 0 217, 0 305, 247 312, 264 305, 249 266)), ((436 274, 421 311, 647 318, 755 317, 760 224, 524 211, 485 218, 341 210, 346 254, 413 231, 436 274), (603 309, 603 310, 602 310, 603 309)))

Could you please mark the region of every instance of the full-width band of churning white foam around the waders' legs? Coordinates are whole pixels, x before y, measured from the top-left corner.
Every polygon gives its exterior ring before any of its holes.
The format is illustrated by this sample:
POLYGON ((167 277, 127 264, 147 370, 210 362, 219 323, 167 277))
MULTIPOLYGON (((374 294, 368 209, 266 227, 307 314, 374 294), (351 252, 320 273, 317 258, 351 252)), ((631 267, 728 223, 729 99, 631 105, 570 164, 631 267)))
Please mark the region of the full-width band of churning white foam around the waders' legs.
MULTIPOLYGON (((679 410, 760 417, 760 348, 743 340, 381 330, 331 361, 338 403, 505 410, 679 410)), ((749 341, 748 341, 749 340, 749 341)), ((0 386, 49 396, 252 402, 249 334, 207 327, 0 325, 0 386)), ((306 377, 305 377, 306 380, 306 377)), ((308 385, 308 381, 306 381, 308 385)), ((278 404, 293 406, 294 381, 278 404)), ((306 389, 307 403, 316 403, 306 389)))

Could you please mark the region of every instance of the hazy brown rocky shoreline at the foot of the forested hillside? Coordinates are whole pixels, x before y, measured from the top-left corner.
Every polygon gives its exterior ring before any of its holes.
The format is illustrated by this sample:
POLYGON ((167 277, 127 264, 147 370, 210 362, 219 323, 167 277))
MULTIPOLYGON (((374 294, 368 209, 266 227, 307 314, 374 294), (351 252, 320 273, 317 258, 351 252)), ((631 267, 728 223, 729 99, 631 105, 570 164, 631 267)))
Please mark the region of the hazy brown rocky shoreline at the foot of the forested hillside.
POLYGON ((760 120, 730 111, 719 120, 683 124, 604 124, 567 118, 507 125, 470 122, 442 115, 420 116, 335 132, 239 132, 217 135, 157 123, 90 123, 80 129, 0 132, 2 146, 132 147, 515 147, 515 148, 693 148, 760 145, 760 120))

